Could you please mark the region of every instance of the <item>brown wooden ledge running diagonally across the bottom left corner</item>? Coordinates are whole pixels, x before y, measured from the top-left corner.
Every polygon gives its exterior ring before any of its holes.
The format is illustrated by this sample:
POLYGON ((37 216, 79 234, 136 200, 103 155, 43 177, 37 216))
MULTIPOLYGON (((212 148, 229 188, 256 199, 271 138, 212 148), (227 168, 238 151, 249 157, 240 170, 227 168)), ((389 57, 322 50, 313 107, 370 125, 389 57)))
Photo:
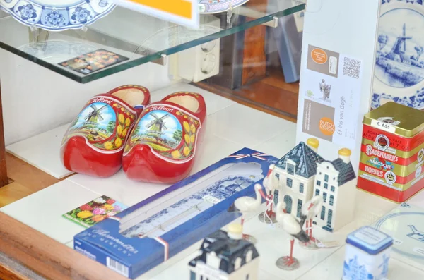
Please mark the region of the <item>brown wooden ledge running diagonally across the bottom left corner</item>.
POLYGON ((127 279, 4 213, 0 213, 0 252, 47 279, 127 279))

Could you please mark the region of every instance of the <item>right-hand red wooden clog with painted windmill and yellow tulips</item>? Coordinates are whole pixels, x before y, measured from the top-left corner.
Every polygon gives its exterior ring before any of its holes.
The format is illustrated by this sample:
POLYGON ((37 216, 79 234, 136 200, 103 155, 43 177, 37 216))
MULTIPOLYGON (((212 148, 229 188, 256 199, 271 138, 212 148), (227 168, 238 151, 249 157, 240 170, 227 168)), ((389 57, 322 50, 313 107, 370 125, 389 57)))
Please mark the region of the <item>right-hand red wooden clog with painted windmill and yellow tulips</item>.
POLYGON ((146 106, 126 142, 126 176, 155 183, 185 178, 194 164, 205 118, 204 98, 194 92, 175 92, 146 106))

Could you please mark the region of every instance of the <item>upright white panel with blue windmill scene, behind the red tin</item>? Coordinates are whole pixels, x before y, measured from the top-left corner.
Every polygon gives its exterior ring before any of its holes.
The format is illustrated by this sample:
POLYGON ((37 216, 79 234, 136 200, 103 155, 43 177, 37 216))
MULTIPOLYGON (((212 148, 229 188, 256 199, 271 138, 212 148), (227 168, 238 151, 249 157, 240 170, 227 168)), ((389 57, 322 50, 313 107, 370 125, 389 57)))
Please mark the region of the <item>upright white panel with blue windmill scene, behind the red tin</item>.
POLYGON ((424 0, 382 0, 372 109, 424 108, 424 0))

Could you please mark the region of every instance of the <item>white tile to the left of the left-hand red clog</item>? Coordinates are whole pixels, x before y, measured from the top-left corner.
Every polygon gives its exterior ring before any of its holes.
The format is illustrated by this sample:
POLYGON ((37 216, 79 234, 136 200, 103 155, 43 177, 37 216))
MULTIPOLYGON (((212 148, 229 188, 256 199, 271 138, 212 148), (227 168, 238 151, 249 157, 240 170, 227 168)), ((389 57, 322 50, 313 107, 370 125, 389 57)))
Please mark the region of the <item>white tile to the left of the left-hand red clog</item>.
POLYGON ((61 164, 59 150, 61 140, 69 124, 59 126, 45 133, 8 145, 6 150, 29 164, 58 179, 72 171, 61 164))

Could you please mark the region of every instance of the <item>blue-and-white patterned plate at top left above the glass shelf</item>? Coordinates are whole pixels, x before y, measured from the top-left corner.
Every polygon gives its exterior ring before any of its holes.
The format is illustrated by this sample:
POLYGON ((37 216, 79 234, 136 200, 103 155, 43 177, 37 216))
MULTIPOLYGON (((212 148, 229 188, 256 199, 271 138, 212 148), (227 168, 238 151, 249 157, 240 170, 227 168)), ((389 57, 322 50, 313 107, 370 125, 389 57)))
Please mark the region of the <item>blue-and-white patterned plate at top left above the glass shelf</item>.
POLYGON ((112 0, 0 0, 0 8, 20 23, 49 31, 80 29, 114 7, 112 0))

